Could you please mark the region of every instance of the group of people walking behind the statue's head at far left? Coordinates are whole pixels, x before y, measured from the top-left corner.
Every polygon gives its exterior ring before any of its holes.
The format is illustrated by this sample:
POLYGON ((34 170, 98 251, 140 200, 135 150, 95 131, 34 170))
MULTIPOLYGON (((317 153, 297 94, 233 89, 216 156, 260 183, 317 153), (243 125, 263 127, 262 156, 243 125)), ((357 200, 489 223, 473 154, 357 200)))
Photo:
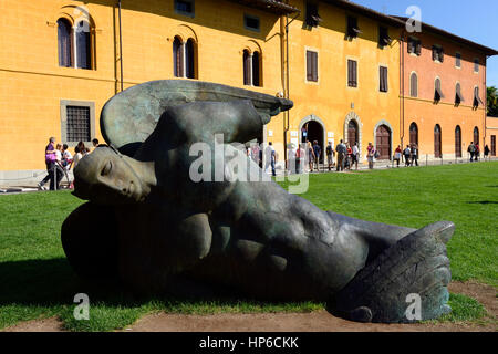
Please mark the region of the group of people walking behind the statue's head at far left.
MULTIPOLYGON (((98 139, 92 140, 94 147, 100 146, 98 139)), ((61 189, 61 181, 64 176, 69 181, 68 171, 76 167, 77 163, 90 154, 90 148, 83 142, 77 143, 74 147, 74 156, 69 150, 68 144, 55 144, 55 137, 49 138, 45 147, 45 165, 48 175, 38 184, 39 190, 46 190, 45 184, 50 181, 50 190, 61 189)), ((72 183, 69 181, 70 188, 72 183)))

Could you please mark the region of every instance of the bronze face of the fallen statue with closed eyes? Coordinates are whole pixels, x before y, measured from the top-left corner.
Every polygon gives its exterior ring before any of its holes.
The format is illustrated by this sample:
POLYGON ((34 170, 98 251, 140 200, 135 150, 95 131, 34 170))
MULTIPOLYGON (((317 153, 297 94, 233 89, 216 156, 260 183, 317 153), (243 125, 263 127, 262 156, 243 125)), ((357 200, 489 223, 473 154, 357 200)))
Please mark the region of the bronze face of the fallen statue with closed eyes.
POLYGON ((74 168, 74 195, 104 205, 141 201, 143 186, 131 157, 98 147, 74 168))

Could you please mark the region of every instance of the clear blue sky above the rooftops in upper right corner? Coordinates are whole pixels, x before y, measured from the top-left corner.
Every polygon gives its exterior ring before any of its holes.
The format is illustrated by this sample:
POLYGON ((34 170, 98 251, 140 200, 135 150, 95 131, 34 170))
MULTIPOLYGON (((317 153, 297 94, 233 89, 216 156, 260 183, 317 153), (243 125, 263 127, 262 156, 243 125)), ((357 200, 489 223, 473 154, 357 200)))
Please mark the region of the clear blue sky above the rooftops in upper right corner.
MULTIPOLYGON (((473 42, 498 50, 497 0, 352 0, 375 11, 406 15, 409 6, 426 22, 473 42)), ((488 59, 487 85, 498 87, 498 55, 488 59)))

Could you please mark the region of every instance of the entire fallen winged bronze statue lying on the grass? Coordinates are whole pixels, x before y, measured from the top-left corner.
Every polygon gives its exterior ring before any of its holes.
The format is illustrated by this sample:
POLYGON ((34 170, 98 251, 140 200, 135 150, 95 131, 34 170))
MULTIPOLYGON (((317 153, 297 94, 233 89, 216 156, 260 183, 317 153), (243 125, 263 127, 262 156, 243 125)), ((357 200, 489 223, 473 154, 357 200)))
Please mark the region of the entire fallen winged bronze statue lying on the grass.
POLYGON ((142 293, 166 293, 188 278, 257 299, 326 301, 333 314, 362 322, 448 313, 452 222, 415 230, 323 211, 261 178, 231 145, 261 136, 271 116, 291 107, 284 98, 173 80, 111 98, 101 115, 110 147, 74 169, 74 195, 90 201, 62 226, 76 273, 115 277, 142 293), (224 144, 221 176, 215 154, 199 169, 207 178, 191 178, 201 155, 193 155, 195 144, 224 144), (234 178, 235 166, 249 166, 247 178, 234 178))

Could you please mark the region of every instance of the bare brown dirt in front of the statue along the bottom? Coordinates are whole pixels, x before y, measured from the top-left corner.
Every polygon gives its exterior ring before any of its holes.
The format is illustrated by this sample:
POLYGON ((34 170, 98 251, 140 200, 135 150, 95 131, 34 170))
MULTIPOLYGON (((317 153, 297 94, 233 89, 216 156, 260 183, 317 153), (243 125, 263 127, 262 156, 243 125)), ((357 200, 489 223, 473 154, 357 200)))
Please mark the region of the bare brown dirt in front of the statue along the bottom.
MULTIPOLYGON (((325 310, 311 313, 221 313, 183 315, 155 313, 138 320, 125 332, 497 332, 498 299, 494 287, 477 282, 452 282, 449 291, 479 301, 488 311, 483 323, 377 324, 335 317, 325 310)), ((56 317, 22 322, 6 332, 62 332, 56 317)))

